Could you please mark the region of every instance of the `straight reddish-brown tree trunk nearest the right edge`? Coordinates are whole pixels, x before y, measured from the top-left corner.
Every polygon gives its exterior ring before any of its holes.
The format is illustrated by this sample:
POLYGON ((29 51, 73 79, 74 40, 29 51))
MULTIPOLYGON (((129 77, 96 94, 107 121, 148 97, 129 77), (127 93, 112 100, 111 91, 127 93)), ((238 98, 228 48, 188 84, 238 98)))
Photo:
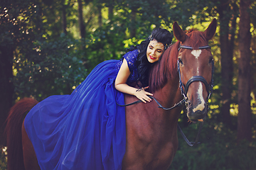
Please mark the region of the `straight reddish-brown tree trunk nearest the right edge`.
POLYGON ((250 0, 240 1, 239 72, 238 72, 238 142, 252 140, 250 108, 250 0))

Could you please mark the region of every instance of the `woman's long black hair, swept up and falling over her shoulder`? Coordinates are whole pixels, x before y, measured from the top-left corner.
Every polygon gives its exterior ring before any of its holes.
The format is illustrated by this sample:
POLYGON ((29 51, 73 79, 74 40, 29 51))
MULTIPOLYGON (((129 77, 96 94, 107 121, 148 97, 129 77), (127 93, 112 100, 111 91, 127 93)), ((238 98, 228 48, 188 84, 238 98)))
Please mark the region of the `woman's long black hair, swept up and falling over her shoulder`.
MULTIPOLYGON (((163 43, 163 45, 166 47, 166 45, 171 45, 171 41, 174 36, 169 32, 169 30, 156 28, 152 31, 150 37, 157 40, 157 42, 163 43)), ((146 58, 146 49, 149 45, 149 42, 150 40, 147 38, 139 45, 129 48, 129 50, 139 50, 139 55, 136 61, 136 67, 139 73, 139 79, 137 81, 140 81, 142 86, 149 86, 149 72, 152 64, 154 64, 150 63, 146 58)))

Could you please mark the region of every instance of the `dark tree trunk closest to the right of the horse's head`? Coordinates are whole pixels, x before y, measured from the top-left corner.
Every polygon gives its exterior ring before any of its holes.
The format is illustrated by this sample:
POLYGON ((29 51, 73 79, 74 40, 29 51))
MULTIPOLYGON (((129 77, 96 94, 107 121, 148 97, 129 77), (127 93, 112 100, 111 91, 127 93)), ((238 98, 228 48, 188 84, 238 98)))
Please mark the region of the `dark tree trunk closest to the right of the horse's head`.
MULTIPOLYGON (((228 128, 232 128, 230 99, 233 90, 233 47, 235 34, 231 33, 231 35, 229 35, 229 33, 230 30, 235 30, 235 28, 232 28, 234 24, 231 25, 231 28, 229 27, 231 18, 230 14, 228 14, 228 11, 230 11, 228 1, 221 1, 217 11, 220 15, 220 64, 222 81, 222 106, 220 108, 220 112, 222 114, 223 123, 227 125, 228 128)), ((234 17, 233 20, 236 20, 236 17, 234 17)))

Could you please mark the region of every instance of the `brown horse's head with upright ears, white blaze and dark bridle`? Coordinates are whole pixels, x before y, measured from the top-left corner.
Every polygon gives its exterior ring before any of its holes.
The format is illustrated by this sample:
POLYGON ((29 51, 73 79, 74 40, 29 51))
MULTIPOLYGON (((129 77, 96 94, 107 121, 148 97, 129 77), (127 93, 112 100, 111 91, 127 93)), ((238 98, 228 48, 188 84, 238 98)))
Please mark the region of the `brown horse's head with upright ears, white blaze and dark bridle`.
POLYGON ((204 32, 191 30, 185 33, 178 23, 174 23, 174 36, 180 44, 180 87, 186 98, 187 115, 191 120, 206 118, 208 97, 213 83, 213 56, 208 40, 215 35, 216 26, 214 19, 204 32))

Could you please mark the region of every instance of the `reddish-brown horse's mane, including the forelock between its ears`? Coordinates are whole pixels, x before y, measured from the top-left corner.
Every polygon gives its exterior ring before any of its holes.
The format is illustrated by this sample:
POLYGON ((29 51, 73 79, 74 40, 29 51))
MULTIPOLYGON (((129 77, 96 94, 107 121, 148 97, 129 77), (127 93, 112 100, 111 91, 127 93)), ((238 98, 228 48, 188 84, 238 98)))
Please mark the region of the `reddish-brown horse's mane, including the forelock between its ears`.
MULTIPOLYGON (((207 43, 204 33, 193 28, 186 31, 186 40, 189 40, 189 45, 195 48, 207 43)), ((163 88, 168 79, 174 79, 178 75, 177 60, 180 44, 181 42, 177 41, 171 45, 161 56, 159 62, 152 67, 149 74, 149 89, 152 92, 163 88)))

